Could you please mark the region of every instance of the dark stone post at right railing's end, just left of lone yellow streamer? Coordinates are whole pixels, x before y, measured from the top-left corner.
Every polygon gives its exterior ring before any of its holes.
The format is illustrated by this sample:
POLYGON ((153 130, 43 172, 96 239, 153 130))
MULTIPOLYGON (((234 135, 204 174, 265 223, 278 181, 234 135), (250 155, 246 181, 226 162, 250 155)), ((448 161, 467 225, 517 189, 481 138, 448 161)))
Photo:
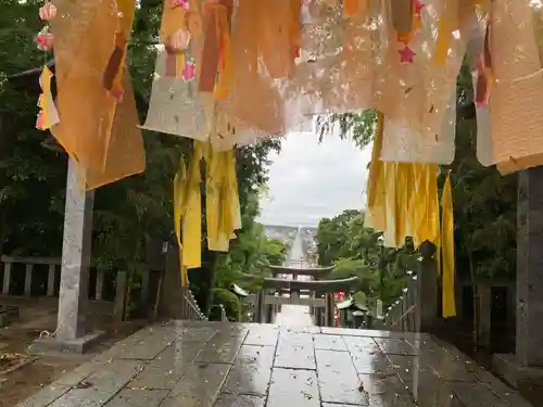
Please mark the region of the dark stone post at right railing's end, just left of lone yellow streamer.
POLYGON ((417 276, 417 305, 419 306, 420 332, 431 332, 438 320, 439 275, 435 259, 435 246, 425 242, 420 246, 422 262, 417 276))

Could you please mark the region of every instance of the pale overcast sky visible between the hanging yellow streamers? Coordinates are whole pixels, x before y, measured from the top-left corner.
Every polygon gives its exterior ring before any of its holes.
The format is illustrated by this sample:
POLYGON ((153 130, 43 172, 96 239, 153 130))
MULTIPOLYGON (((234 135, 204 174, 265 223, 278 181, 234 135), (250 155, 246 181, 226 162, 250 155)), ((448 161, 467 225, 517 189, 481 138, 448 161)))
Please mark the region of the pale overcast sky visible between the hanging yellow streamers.
POLYGON ((328 136, 290 133, 270 158, 269 193, 258 219, 267 225, 316 226, 321 217, 365 205, 370 149, 328 136))

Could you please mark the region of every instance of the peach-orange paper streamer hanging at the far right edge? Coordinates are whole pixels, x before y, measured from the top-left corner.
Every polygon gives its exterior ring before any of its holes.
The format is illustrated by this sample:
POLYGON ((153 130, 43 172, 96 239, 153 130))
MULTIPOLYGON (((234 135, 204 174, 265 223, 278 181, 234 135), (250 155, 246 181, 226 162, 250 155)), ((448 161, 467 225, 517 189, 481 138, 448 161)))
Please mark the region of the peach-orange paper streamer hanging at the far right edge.
POLYGON ((490 96, 494 163, 502 174, 543 164, 541 21, 529 0, 493 2, 490 96), (520 22, 522 22, 520 24, 520 22), (538 24, 540 24, 538 26, 538 24))

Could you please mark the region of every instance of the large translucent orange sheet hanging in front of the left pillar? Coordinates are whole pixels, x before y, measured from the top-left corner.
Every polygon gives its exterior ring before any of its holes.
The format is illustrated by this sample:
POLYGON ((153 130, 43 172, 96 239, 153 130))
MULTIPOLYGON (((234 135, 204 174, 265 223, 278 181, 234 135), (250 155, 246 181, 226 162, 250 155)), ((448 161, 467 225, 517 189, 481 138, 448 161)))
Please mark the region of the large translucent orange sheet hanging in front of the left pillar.
MULTIPOLYGON (((144 169, 128 69, 123 66, 118 76, 124 90, 121 101, 102 86, 115 35, 119 27, 127 29, 134 17, 134 1, 123 1, 127 8, 123 10, 131 10, 131 16, 124 13, 122 22, 111 13, 117 7, 112 0, 58 0, 58 15, 51 21, 55 34, 56 109, 61 117, 51 133, 79 163, 87 189, 144 169)), ((125 5, 119 1, 118 7, 125 5)))

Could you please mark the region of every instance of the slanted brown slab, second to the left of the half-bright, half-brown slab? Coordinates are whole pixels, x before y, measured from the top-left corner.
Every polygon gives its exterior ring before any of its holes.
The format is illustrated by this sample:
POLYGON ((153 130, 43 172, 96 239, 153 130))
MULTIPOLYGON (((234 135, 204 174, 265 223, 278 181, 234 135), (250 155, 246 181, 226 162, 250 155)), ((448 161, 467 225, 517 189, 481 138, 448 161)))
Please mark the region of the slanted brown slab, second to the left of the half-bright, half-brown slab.
POLYGON ((176 341, 147 365, 130 383, 137 389, 172 389, 201 351, 203 343, 176 341))

